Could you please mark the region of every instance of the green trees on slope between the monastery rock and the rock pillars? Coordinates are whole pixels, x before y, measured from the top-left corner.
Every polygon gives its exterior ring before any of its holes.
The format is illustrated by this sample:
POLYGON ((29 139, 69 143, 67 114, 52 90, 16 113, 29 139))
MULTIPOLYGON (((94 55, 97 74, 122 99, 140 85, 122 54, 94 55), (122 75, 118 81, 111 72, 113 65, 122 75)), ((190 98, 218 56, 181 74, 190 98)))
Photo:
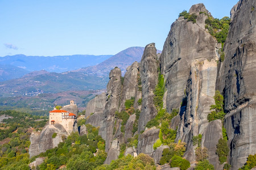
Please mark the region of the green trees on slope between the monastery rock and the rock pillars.
POLYGON ((58 147, 39 154, 47 158, 39 168, 58 169, 61 165, 67 165, 68 169, 94 169, 102 165, 107 156, 105 141, 98 135, 98 128, 89 124, 85 126, 88 135, 71 133, 58 147))

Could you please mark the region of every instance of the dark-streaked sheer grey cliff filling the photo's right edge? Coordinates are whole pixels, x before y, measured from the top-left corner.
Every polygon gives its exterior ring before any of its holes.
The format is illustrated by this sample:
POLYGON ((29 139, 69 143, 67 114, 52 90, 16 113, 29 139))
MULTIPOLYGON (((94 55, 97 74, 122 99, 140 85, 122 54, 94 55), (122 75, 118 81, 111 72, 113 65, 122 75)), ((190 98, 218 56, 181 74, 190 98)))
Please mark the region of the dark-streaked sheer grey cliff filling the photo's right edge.
POLYGON ((254 113, 256 86, 256 2, 239 1, 232 8, 232 21, 224 45, 218 89, 225 100, 225 128, 230 146, 229 163, 238 169, 249 154, 256 154, 254 113))

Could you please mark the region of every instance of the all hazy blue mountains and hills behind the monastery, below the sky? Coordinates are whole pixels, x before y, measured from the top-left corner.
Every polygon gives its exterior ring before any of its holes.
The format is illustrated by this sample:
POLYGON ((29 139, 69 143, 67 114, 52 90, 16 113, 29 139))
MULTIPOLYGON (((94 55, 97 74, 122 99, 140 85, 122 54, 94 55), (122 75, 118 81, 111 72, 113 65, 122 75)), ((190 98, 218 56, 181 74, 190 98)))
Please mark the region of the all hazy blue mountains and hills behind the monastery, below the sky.
MULTIPOLYGON (((4 108, 21 109, 22 106, 26 111, 28 108, 38 110, 46 109, 53 103, 57 103, 58 105, 67 104, 68 99, 72 98, 72 94, 76 94, 76 97, 74 98, 73 96, 73 98, 76 100, 77 105, 79 105, 80 108, 84 108, 86 101, 92 97, 90 94, 95 94, 96 91, 106 88, 106 84, 109 81, 110 70, 117 66, 122 70, 122 75, 124 75, 126 68, 130 66, 131 63, 141 61, 143 51, 143 47, 136 46, 127 48, 114 56, 94 56, 94 59, 91 58, 91 60, 94 61, 88 63, 98 63, 98 61, 104 58, 105 60, 97 65, 82 67, 80 69, 74 68, 88 64, 85 63, 84 58, 89 57, 77 55, 77 57, 56 56, 51 58, 16 55, 0 58, 1 64, 6 64, 5 66, 0 66, 2 68, 0 69, 0 78, 2 78, 0 80, 6 77, 3 76, 3 73, 9 75, 10 78, 15 78, 0 82, 0 105, 2 105, 0 110, 4 108), (63 61, 65 57, 66 60, 63 61), (79 57, 81 59, 79 59, 79 57), (75 61, 75 58, 77 61, 75 61), (51 61, 51 59, 53 60, 51 61), (47 66, 47 62, 50 62, 48 63, 48 67, 43 67, 43 65, 47 66), (37 63, 39 64, 38 67, 36 67, 37 63), (63 73, 50 73, 47 68, 49 69, 49 65, 52 63, 56 65, 54 68, 59 71, 65 68, 67 68, 67 70, 74 70, 65 71, 63 73), (10 66, 10 64, 13 65, 10 66), (71 66, 68 67, 68 65, 71 66), (29 68, 31 70, 38 70, 40 68, 43 70, 32 71, 26 74, 27 70, 20 67, 26 67, 26 69, 29 68), (88 95, 81 95, 83 93, 82 91, 86 91, 88 95), (60 100, 60 96, 63 94, 65 94, 65 97, 61 97, 62 100, 60 100)), ((158 51, 158 53, 160 53, 160 51, 158 51)))

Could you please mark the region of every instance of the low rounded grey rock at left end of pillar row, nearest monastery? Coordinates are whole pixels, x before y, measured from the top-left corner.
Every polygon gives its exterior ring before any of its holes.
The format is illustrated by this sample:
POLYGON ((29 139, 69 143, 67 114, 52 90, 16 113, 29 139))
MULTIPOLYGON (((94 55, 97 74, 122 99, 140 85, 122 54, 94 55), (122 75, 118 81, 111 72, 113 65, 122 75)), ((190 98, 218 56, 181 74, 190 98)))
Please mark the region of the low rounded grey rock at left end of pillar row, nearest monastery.
POLYGON ((105 93, 97 95, 90 100, 86 106, 85 118, 89 117, 91 113, 103 113, 108 96, 105 93))

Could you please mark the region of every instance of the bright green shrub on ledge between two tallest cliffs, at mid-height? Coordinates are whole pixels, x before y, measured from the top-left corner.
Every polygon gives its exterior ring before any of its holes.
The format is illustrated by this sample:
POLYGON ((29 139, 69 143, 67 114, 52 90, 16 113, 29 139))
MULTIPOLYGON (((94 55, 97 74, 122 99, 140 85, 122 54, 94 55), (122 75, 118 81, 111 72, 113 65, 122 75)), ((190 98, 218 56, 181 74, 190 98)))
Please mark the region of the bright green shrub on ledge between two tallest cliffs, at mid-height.
POLYGON ((214 95, 215 104, 210 106, 210 112, 207 116, 208 121, 213 121, 216 119, 222 120, 225 117, 224 113, 224 97, 220 94, 220 91, 216 91, 214 95))

